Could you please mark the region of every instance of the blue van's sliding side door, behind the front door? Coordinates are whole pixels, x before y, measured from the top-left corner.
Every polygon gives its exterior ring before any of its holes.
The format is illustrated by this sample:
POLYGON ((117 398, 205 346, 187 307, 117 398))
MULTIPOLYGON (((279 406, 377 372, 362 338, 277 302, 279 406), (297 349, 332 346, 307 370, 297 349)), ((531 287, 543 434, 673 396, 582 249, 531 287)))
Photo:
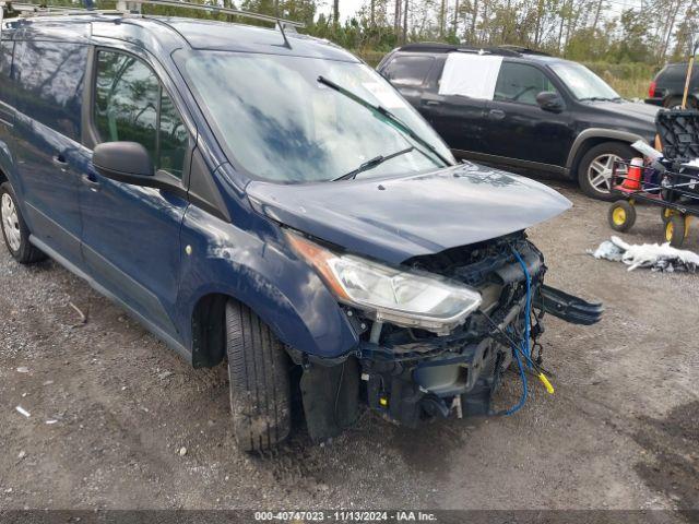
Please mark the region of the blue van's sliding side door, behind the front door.
POLYGON ((29 228, 78 266, 82 265, 78 189, 84 165, 80 107, 86 60, 87 46, 82 44, 15 43, 16 190, 29 228))

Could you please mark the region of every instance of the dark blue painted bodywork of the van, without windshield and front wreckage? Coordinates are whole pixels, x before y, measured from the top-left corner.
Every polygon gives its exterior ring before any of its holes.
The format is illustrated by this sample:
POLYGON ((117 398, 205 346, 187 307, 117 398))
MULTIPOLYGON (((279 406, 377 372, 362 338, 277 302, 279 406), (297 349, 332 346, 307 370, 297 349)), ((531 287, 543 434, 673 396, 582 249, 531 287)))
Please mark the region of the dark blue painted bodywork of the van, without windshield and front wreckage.
POLYGON ((356 61, 328 43, 288 37, 292 49, 282 45, 277 31, 106 15, 3 26, 2 49, 15 40, 21 55, 15 49, 16 64, 7 53, 0 58, 0 169, 17 192, 35 241, 186 356, 196 349, 196 307, 212 294, 247 303, 282 342, 308 354, 335 357, 357 347, 345 312, 291 251, 280 223, 401 262, 522 229, 568 206, 535 182, 473 166, 382 180, 383 189, 377 180, 362 179, 250 183, 228 164, 171 53, 209 47, 356 61), (95 172, 95 139, 83 127, 91 92, 83 73, 90 70, 86 50, 96 47, 147 61, 180 110, 205 167, 185 177, 179 195, 95 172), (29 68, 34 50, 40 71, 29 68), (61 63, 69 68, 61 71, 61 63), (211 178, 230 223, 192 203, 191 177, 211 178))

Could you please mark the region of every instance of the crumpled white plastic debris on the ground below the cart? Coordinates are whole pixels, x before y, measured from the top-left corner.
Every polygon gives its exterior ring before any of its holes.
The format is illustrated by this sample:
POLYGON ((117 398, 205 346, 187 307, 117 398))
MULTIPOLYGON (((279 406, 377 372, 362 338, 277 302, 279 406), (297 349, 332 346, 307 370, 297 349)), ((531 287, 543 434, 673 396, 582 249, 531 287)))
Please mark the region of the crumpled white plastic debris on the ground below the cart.
POLYGON ((652 271, 686 271, 695 273, 699 270, 699 254, 686 249, 677 249, 670 243, 631 245, 619 237, 605 240, 594 251, 589 251, 595 259, 624 262, 628 271, 637 267, 650 267, 652 271))

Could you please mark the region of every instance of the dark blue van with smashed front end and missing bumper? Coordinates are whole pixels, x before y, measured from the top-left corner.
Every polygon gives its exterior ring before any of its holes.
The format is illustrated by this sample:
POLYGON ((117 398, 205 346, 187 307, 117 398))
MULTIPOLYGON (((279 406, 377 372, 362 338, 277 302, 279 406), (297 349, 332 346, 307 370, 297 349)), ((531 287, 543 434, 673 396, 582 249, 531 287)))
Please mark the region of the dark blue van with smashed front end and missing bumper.
MULTIPOLYGON (((369 67, 279 29, 130 13, 5 19, 0 213, 194 367, 227 360, 235 433, 313 440, 360 406, 408 426, 488 415, 541 372, 546 287, 524 229, 570 204, 457 164, 369 67)), ((516 406, 517 407, 517 406, 516 406)))

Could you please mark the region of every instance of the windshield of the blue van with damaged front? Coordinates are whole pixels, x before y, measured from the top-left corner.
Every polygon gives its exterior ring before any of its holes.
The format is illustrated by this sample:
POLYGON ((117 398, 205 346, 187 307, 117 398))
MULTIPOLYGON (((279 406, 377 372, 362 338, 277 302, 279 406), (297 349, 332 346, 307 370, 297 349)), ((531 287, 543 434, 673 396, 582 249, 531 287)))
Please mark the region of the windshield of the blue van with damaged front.
POLYGON ((199 51, 183 72, 234 165, 279 182, 333 180, 378 156, 358 177, 413 174, 443 162, 376 111, 318 81, 383 106, 437 152, 453 156, 396 92, 362 64, 277 55, 199 51))

